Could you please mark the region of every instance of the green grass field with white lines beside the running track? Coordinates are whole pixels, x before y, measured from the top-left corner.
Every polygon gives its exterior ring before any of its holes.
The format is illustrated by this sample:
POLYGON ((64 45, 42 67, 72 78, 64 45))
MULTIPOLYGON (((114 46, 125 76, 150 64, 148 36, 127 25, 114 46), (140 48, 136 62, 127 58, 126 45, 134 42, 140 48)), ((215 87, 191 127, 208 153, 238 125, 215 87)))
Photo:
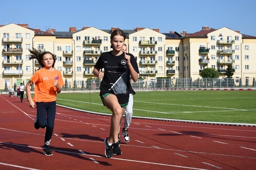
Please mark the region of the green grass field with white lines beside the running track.
MULTIPOLYGON (((150 91, 133 99, 134 116, 256 124, 256 91, 150 91)), ((111 114, 99 93, 60 93, 57 104, 111 114)))

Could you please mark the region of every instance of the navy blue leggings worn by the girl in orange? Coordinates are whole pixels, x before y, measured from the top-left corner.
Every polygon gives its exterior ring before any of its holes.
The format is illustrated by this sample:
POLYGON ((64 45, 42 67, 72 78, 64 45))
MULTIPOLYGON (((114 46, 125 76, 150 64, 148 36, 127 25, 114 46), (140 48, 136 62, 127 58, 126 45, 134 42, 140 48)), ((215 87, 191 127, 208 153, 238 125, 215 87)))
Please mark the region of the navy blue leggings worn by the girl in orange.
POLYGON ((37 122, 41 128, 46 127, 45 142, 51 139, 56 114, 56 101, 37 102, 37 122))

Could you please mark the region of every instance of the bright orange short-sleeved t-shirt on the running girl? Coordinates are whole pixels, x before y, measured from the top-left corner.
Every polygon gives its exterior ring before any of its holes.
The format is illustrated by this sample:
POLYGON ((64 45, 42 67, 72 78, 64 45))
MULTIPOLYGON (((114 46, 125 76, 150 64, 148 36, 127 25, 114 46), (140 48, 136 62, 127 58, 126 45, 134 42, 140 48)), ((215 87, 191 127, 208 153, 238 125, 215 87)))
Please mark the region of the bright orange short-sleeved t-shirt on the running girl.
POLYGON ((63 86, 64 82, 60 71, 49 71, 46 68, 37 70, 30 78, 35 83, 34 102, 53 102, 56 101, 57 88, 53 85, 54 79, 58 77, 59 86, 63 86))

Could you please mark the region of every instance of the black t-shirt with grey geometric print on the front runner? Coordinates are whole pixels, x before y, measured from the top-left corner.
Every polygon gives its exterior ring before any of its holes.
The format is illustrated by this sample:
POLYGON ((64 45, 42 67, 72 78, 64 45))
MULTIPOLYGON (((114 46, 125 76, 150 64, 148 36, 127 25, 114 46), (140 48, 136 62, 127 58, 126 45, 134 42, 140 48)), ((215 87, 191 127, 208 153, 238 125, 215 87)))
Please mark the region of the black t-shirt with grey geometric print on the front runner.
MULTIPOLYGON (((135 57, 127 53, 134 70, 139 73, 135 57)), ((125 60, 125 53, 120 56, 113 56, 111 51, 100 55, 94 65, 98 69, 104 68, 104 77, 100 84, 100 96, 111 93, 115 94, 119 104, 125 104, 129 101, 130 93, 130 71, 125 60)))

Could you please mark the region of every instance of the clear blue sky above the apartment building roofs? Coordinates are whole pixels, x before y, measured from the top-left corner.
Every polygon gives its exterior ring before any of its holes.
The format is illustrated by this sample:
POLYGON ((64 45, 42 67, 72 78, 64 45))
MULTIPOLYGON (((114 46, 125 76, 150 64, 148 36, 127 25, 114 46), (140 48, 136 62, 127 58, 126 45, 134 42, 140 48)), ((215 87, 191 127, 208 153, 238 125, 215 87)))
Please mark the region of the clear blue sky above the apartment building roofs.
POLYGON ((84 26, 145 27, 159 28, 160 33, 194 33, 202 26, 215 29, 225 26, 256 36, 255 7, 255 0, 25 0, 13 8, 12 5, 1 8, 0 25, 22 23, 43 31, 47 28, 69 31, 69 27, 78 30, 84 26))

